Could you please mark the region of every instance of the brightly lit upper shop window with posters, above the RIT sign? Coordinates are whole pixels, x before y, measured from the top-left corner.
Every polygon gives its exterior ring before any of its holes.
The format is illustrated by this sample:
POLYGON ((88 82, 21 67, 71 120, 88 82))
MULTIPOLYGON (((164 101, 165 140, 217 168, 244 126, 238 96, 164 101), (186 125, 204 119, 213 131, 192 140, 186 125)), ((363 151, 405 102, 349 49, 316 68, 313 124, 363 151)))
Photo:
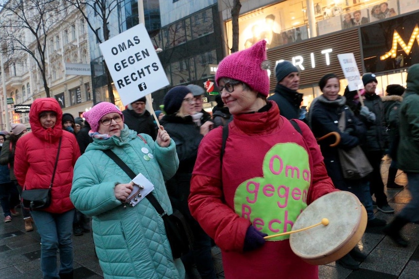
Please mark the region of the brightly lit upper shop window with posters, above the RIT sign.
MULTIPOLYGON (((268 49, 416 11, 419 0, 286 0, 239 17, 239 50, 265 39, 268 49), (312 8, 313 7, 313 8, 312 8), (315 26, 309 24, 309 14, 315 26)), ((195 17, 198 17, 197 15, 195 17)), ((194 17, 192 17, 192 35, 194 17)), ((226 22, 229 48, 231 20, 226 22)))

